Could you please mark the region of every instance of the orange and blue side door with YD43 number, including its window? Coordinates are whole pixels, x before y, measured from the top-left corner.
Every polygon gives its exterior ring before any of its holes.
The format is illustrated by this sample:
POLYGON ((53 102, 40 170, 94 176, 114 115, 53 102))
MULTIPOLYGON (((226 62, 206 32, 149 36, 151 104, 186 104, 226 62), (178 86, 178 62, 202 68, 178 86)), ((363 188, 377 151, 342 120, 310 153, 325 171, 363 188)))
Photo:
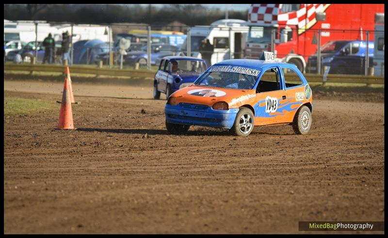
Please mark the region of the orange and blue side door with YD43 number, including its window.
POLYGON ((287 115, 287 94, 280 75, 280 68, 265 70, 256 88, 255 125, 284 123, 287 115))

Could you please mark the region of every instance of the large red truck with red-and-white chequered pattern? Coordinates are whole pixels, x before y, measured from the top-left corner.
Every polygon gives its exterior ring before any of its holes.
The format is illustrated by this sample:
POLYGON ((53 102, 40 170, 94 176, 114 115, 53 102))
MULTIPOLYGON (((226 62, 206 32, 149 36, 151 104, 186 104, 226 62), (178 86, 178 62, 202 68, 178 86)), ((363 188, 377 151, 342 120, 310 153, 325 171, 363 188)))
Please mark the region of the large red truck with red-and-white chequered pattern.
POLYGON ((252 4, 244 58, 275 51, 276 61, 306 72, 308 56, 317 51, 319 29, 321 46, 333 40, 365 40, 366 31, 373 41, 374 15, 381 12, 384 4, 252 4))

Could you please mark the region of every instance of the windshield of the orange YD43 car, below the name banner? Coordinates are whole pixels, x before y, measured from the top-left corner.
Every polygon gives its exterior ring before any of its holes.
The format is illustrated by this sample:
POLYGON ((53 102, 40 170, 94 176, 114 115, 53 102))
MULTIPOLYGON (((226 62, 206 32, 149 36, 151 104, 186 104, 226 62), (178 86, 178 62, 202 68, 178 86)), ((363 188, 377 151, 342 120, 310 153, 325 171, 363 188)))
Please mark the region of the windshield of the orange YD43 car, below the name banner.
POLYGON ((194 84, 216 88, 252 89, 258 76, 235 72, 206 72, 194 84))

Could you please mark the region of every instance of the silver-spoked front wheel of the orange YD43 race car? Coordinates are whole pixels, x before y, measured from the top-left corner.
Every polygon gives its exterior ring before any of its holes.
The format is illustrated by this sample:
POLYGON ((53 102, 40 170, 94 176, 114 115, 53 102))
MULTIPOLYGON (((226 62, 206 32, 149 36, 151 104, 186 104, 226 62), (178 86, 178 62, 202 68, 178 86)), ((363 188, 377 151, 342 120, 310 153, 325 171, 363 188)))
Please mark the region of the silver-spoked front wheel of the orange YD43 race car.
POLYGON ((235 136, 247 136, 252 132, 254 125, 255 115, 249 108, 242 107, 229 131, 235 136))

